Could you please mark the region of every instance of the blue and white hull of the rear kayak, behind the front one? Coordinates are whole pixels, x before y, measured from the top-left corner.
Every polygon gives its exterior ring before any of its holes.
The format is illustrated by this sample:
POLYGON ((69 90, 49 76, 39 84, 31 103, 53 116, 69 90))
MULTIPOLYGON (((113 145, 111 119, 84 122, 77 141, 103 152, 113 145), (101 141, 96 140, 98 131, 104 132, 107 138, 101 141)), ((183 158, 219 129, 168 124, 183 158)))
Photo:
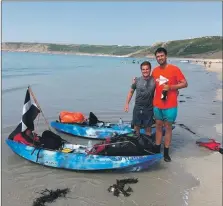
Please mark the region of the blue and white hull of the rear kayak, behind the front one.
MULTIPOLYGON (((65 124, 53 121, 51 122, 51 127, 59 132, 91 139, 106 139, 113 137, 114 133, 120 135, 133 132, 130 123, 123 123, 121 127, 118 124, 109 124, 109 126, 100 127, 80 124, 65 124)), ((152 135, 155 135, 155 132, 156 128, 152 127, 152 135)), ((145 130, 141 129, 140 133, 145 134, 145 130)), ((163 129, 163 135, 165 135, 165 129, 163 129)))

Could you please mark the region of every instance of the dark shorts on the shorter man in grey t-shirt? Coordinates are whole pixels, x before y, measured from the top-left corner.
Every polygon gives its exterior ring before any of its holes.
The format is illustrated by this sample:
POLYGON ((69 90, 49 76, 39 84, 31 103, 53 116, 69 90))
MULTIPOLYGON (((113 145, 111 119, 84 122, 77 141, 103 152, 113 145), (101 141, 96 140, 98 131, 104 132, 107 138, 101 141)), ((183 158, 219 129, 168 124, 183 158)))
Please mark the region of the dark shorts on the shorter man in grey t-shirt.
POLYGON ((140 127, 151 127, 153 125, 153 109, 134 107, 132 124, 140 127))

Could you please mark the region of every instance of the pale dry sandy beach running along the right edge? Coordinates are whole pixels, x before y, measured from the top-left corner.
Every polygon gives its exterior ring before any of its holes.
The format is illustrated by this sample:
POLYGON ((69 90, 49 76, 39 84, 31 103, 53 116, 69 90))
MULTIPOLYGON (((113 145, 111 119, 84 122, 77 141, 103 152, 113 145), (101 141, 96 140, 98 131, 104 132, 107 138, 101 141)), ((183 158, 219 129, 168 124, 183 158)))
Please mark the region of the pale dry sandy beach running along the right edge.
MULTIPOLYGON (((204 66, 208 72, 216 72, 222 81, 221 59, 193 59, 193 64, 204 66), (204 66, 204 61, 208 62, 204 66), (209 65, 209 62, 212 62, 209 65)), ((219 85, 219 87, 222 87, 219 85)), ((222 89, 216 91, 216 100, 222 101, 222 89)), ((222 137, 222 122, 215 125, 216 132, 222 137)), ((207 151, 209 152, 209 151, 207 151)), ((189 197, 190 206, 221 206, 222 205, 222 155, 210 152, 209 156, 188 158, 185 160, 186 170, 200 181, 200 186, 195 188, 189 197)))

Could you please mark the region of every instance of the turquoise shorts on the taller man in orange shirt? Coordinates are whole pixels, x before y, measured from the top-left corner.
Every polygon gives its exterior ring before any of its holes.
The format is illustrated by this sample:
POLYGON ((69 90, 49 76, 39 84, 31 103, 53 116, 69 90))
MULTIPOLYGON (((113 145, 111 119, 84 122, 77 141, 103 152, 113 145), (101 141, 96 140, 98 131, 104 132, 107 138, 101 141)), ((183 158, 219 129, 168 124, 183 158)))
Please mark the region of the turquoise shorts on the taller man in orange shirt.
POLYGON ((153 112, 156 120, 174 123, 177 118, 177 107, 169 109, 159 109, 154 107, 153 112))

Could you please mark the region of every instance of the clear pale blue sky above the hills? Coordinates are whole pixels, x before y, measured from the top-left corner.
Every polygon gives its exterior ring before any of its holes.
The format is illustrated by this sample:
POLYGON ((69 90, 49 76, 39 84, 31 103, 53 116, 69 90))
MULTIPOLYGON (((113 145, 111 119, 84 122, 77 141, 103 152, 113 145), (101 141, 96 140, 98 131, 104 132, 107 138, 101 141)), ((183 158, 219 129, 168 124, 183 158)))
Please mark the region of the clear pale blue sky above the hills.
POLYGON ((2 41, 151 45, 222 35, 222 2, 3 2, 2 41))

